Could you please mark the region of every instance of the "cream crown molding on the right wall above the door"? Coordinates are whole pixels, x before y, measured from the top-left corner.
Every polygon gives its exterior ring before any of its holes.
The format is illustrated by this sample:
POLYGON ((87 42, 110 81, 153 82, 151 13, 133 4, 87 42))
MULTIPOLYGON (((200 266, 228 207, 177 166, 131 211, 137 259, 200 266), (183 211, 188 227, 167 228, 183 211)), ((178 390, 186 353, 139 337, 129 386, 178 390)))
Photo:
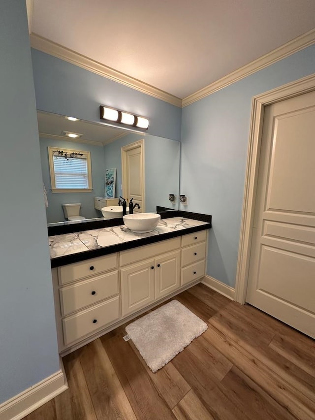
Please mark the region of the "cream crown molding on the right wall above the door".
POLYGON ((293 39, 292 41, 287 42, 279 48, 267 53, 258 59, 252 61, 251 63, 244 65, 243 67, 238 68, 232 73, 227 74, 221 79, 211 83, 210 85, 200 89, 194 94, 185 97, 182 101, 182 106, 190 105, 193 102, 196 102, 203 97, 213 94, 214 92, 219 91, 220 89, 225 88, 226 86, 231 85, 232 83, 237 82, 238 80, 243 79, 255 73, 262 68, 267 67, 268 65, 274 64, 277 61, 284 59, 312 44, 315 43, 315 29, 304 33, 301 36, 293 39))

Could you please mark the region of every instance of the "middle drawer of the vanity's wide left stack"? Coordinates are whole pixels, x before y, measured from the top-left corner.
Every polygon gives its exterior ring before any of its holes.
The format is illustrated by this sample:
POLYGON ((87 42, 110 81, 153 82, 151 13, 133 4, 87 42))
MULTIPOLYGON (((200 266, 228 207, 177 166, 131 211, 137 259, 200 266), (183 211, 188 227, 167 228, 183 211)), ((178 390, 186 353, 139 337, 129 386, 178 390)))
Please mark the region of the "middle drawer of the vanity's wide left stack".
POLYGON ((92 280, 63 287, 59 290, 62 315, 94 305, 119 293, 118 271, 103 274, 92 280))

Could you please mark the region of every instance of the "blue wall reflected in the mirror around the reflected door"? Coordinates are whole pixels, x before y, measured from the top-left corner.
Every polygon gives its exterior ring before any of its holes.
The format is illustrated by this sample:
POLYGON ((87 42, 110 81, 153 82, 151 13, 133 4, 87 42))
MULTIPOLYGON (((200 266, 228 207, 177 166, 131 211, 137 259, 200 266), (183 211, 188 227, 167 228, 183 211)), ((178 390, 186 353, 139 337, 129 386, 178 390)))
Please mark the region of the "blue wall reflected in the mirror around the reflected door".
POLYGON ((140 139, 144 139, 145 211, 154 212, 157 205, 172 208, 168 194, 179 191, 180 142, 163 137, 130 133, 104 147, 106 168, 117 169, 115 196, 122 194, 121 148, 140 139))

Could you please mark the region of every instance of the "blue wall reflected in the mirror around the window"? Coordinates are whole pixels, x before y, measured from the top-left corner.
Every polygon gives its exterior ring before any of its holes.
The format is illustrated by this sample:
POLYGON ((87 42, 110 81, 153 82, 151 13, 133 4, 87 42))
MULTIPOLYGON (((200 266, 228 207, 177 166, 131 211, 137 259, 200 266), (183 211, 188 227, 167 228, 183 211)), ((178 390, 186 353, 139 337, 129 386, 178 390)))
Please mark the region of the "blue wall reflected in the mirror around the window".
POLYGON ((43 181, 47 191, 48 207, 46 208, 47 223, 64 221, 62 203, 81 203, 80 215, 86 219, 100 217, 101 214, 94 208, 94 197, 104 195, 105 164, 104 147, 91 144, 74 143, 65 140, 52 140, 50 138, 40 139, 40 156, 43 173, 43 181), (92 165, 92 193, 52 193, 48 146, 58 147, 61 150, 85 150, 91 152, 92 165))

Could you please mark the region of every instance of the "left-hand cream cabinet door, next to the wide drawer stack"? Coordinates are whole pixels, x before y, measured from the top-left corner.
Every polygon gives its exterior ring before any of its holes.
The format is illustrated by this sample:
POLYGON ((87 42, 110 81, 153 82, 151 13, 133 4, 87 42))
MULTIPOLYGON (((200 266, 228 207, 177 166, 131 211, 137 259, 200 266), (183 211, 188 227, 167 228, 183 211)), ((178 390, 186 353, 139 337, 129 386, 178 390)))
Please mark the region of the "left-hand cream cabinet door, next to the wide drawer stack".
POLYGON ((121 270, 123 317, 154 301, 155 270, 154 259, 121 270))

